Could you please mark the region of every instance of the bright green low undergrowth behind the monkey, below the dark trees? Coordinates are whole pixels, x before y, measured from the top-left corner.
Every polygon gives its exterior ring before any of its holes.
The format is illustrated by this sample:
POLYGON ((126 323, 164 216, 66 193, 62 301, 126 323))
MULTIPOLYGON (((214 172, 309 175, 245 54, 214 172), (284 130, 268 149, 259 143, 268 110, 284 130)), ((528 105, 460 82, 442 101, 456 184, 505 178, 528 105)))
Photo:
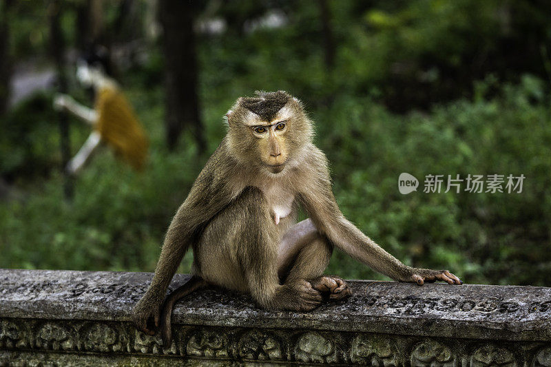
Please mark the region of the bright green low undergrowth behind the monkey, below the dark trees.
MULTIPOLYGON (((543 84, 525 76, 490 100, 479 95, 430 114, 399 116, 369 98, 345 95, 314 111, 343 213, 408 264, 453 269, 468 282, 549 284, 551 127, 548 98, 536 99, 537 85, 543 84), (526 180, 522 193, 423 193, 420 187, 403 196, 397 190, 402 171, 420 180, 494 173, 526 180)), ((76 181, 70 204, 56 171, 25 187, 21 198, 0 205, 0 266, 154 269, 171 215, 204 159, 189 136, 174 154, 166 151, 159 90, 130 92, 153 143, 147 172, 136 174, 105 149, 76 181)), ((205 120, 214 147, 225 127, 219 117, 205 120)), ((75 145, 85 138, 78 135, 75 145)), ((188 255, 185 271, 190 261, 188 255)), ((382 279, 339 252, 328 271, 382 279)))

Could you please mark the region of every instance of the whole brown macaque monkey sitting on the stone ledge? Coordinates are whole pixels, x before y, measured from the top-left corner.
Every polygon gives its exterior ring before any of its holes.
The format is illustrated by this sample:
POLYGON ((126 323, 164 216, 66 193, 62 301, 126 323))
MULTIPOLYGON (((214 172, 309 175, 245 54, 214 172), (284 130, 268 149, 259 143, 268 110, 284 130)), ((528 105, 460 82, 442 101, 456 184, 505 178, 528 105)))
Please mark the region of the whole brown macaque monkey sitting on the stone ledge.
POLYGON ((226 116, 227 135, 176 212, 152 283, 134 307, 141 331, 154 335, 160 325, 168 346, 174 303, 207 284, 249 293, 268 310, 311 311, 324 298, 348 297, 344 280, 323 274, 333 247, 393 280, 462 284, 447 270, 402 264, 344 218, 297 98, 257 92, 238 98, 226 116), (310 218, 296 223, 299 206, 310 218), (163 306, 189 247, 193 276, 163 306))

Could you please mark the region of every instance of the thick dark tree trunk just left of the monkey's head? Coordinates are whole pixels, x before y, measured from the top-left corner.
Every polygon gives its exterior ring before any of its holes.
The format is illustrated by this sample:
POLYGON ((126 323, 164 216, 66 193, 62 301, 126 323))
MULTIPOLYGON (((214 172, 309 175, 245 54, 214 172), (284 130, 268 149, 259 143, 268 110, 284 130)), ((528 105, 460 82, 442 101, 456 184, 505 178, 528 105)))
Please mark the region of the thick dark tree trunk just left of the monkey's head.
POLYGON ((164 32, 167 145, 173 150, 186 127, 193 132, 199 151, 204 151, 193 29, 195 8, 191 1, 160 0, 158 10, 164 32))

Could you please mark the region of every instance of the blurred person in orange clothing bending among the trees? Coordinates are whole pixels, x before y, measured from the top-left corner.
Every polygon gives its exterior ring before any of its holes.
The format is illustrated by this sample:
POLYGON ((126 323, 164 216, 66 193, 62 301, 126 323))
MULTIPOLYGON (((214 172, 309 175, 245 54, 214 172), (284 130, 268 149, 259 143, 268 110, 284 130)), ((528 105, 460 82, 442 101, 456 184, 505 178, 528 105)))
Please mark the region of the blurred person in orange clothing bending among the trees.
POLYGON ((77 61, 76 78, 95 94, 94 109, 76 102, 67 94, 57 94, 54 108, 71 112, 92 126, 93 131, 79 152, 67 163, 67 171, 76 175, 81 171, 100 143, 114 149, 134 169, 145 166, 149 143, 145 131, 120 87, 110 77, 107 53, 94 52, 77 61))

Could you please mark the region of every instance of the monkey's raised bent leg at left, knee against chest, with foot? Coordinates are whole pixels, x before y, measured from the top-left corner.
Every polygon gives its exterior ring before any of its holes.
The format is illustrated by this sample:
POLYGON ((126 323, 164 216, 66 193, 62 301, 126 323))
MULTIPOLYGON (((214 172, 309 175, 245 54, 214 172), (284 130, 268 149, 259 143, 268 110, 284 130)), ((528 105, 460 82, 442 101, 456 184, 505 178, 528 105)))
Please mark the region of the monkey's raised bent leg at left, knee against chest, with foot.
POLYGON ((279 244, 264 194, 249 187, 203 231, 196 249, 198 275, 209 284, 249 293, 262 308, 310 311, 322 295, 304 279, 280 284, 279 244))

